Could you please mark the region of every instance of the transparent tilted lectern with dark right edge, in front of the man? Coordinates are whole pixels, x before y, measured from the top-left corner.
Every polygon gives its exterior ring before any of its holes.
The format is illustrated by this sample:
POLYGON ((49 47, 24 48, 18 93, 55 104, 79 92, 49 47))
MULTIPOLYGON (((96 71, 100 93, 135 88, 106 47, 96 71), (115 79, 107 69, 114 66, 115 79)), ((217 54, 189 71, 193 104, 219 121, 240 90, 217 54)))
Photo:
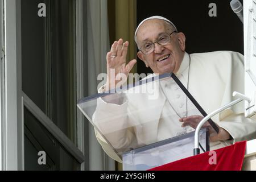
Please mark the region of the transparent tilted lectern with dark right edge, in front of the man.
MULTIPOLYGON (((114 90, 101 88, 77 103, 102 148, 122 160, 123 170, 147 170, 193 155, 195 122, 181 125, 184 118, 199 121, 207 113, 180 80, 172 73, 154 75, 114 90)), ((209 119, 200 131, 200 152, 209 151, 209 136, 217 133, 209 119)))

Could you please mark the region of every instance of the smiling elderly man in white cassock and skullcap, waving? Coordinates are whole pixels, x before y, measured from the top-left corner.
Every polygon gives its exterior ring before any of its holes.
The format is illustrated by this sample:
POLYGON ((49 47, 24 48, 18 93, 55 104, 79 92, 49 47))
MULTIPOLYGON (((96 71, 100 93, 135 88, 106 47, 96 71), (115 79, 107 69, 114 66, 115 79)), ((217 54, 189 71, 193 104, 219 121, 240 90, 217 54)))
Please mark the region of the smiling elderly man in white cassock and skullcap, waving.
MULTIPOLYGON (((178 32, 175 25, 162 16, 144 19, 135 31, 135 42, 139 49, 138 57, 146 67, 150 67, 154 74, 175 73, 207 113, 233 101, 234 91, 244 92, 243 56, 240 53, 217 51, 189 55, 185 52, 185 35, 178 32)), ((136 60, 126 64, 128 46, 129 43, 123 42, 122 39, 112 44, 110 52, 106 55, 109 79, 98 92, 106 92, 118 84, 117 80, 110 77, 111 69, 114 69, 115 75, 123 73, 127 76, 133 68, 136 60)), ((104 131, 110 127, 98 122, 106 118, 115 118, 111 121, 113 124, 111 127, 120 130, 109 134, 108 139, 112 140, 117 150, 132 146, 133 142, 150 144, 171 138, 177 133, 182 133, 185 128, 189 131, 195 129, 203 117, 188 114, 185 109, 187 98, 178 93, 168 96, 170 93, 167 92, 168 89, 173 89, 173 93, 176 89, 174 86, 168 87, 168 84, 172 83, 167 83, 167 86, 160 89, 159 98, 155 101, 149 101, 140 94, 132 96, 121 94, 119 98, 112 100, 99 98, 93 122, 104 131), (175 98, 175 102, 170 102, 174 100, 172 97, 175 98), (183 114, 178 114, 172 107, 174 105, 183 109, 183 114), (137 111, 143 107, 148 107, 147 111, 137 111), (170 122, 168 119, 170 111, 177 115, 175 122, 170 122), (151 122, 127 127, 129 123, 144 123, 145 120, 151 122)), ((212 120, 218 126, 219 132, 210 137, 211 150, 239 140, 256 138, 256 122, 243 117, 242 103, 222 111, 212 120)), ((96 137, 110 157, 122 162, 98 131, 96 137)))

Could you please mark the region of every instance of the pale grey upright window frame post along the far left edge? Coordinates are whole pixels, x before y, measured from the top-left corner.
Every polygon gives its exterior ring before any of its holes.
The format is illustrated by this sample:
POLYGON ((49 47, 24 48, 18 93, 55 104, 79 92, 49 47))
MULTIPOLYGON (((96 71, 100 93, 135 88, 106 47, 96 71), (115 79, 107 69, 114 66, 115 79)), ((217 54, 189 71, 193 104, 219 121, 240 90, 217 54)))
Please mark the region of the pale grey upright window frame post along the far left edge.
POLYGON ((22 97, 21 97, 21 27, 20 0, 2 0, 1 4, 1 169, 24 168, 22 97), (3 13, 3 14, 2 14, 3 13), (8 30, 8 31, 7 31, 8 30))

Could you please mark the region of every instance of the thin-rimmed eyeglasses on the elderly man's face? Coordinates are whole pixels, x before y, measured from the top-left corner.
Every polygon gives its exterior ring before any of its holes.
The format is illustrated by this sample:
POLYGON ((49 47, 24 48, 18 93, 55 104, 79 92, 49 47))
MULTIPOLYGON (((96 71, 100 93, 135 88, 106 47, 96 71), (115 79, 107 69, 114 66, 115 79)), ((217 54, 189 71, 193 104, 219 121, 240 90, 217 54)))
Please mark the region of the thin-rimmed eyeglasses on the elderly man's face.
POLYGON ((145 43, 141 49, 139 49, 139 51, 141 51, 142 53, 144 53, 145 55, 150 54, 151 52, 154 51, 155 49, 155 43, 158 43, 160 46, 166 46, 168 43, 171 42, 171 35, 177 31, 173 31, 171 32, 171 34, 167 34, 167 33, 163 33, 162 35, 160 35, 158 37, 158 39, 156 39, 155 42, 147 42, 145 43))

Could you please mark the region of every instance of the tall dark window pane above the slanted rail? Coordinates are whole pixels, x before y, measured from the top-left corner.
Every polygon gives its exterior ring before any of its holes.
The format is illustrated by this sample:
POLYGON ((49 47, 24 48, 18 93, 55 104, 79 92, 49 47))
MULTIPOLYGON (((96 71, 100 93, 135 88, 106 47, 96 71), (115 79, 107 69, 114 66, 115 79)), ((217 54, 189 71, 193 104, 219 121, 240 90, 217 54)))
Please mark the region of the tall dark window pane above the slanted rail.
POLYGON ((75 0, 21 4, 22 90, 76 144, 75 0))

